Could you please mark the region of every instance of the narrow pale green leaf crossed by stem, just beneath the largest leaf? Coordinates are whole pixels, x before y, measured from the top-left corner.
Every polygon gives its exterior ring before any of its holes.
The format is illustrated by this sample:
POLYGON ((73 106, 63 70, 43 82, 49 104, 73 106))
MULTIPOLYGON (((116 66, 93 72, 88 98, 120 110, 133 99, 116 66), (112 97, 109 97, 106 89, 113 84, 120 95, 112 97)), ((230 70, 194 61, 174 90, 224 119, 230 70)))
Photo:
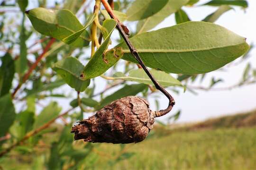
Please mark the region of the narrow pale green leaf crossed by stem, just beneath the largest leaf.
MULTIPOLYGON (((155 77, 155 79, 163 86, 173 86, 181 85, 181 82, 175 79, 173 76, 165 73, 164 71, 150 70, 150 73, 155 77)), ((136 70, 131 70, 129 76, 115 76, 117 79, 135 81, 138 83, 144 83, 146 85, 154 85, 151 79, 147 76, 145 71, 140 68, 136 70)))

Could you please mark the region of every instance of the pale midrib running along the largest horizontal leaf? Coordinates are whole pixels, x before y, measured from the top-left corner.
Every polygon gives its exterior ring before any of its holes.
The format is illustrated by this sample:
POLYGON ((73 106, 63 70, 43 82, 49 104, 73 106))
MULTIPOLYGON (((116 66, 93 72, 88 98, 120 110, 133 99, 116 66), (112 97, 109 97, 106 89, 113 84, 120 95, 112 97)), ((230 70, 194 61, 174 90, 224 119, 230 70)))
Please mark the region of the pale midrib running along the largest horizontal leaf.
MULTIPOLYGON (((184 49, 184 50, 173 50, 173 49, 154 49, 154 50, 150 50, 150 49, 137 49, 138 52, 158 52, 158 53, 166 53, 166 52, 191 52, 191 51, 206 51, 206 50, 214 50, 214 49, 219 49, 219 48, 227 48, 227 47, 232 47, 232 46, 237 46, 237 45, 242 45, 246 42, 242 42, 239 44, 232 44, 232 45, 227 45, 227 46, 218 46, 218 47, 214 47, 214 48, 201 48, 201 49, 184 49)), ((122 50, 123 53, 129 53, 130 50, 125 49, 122 50)))

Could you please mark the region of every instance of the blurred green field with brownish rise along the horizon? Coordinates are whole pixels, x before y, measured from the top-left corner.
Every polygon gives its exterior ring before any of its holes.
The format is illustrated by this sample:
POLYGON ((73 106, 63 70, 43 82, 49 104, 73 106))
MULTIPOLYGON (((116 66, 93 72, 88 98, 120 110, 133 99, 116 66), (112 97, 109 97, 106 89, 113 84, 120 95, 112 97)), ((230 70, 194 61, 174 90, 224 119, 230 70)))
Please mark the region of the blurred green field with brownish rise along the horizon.
MULTIPOLYGON (((175 129, 158 125, 137 144, 93 144, 81 170, 256 170, 255 115, 226 116, 175 129)), ((54 139, 45 138, 49 143, 54 139)), ((45 159, 13 153, 0 159, 0 166, 3 170, 45 170, 40 166, 45 159)), ((65 167, 69 169, 73 170, 65 167)))

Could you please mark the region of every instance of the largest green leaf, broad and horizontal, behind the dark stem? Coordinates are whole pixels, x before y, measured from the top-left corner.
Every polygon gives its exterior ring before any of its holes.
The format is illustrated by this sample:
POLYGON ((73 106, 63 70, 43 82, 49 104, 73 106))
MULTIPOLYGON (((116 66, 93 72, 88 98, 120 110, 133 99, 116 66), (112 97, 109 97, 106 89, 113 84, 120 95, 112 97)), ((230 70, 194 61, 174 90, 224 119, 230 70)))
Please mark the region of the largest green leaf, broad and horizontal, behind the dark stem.
MULTIPOLYGON (((246 38, 206 22, 186 22, 136 35, 130 41, 146 66, 181 74, 216 70, 249 48, 246 38)), ((117 47, 124 49, 122 59, 137 63, 125 42, 117 47)))

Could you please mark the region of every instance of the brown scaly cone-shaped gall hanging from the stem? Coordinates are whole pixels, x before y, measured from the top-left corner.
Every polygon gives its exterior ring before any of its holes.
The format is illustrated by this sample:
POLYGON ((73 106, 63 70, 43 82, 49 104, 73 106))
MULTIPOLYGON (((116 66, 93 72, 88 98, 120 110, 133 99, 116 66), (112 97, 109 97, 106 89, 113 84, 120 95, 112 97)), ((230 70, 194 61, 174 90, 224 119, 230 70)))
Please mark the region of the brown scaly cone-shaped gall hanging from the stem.
POLYGON ((155 112, 148 102, 127 96, 112 102, 95 115, 72 127, 74 139, 88 142, 128 144, 143 141, 154 124, 155 112))

